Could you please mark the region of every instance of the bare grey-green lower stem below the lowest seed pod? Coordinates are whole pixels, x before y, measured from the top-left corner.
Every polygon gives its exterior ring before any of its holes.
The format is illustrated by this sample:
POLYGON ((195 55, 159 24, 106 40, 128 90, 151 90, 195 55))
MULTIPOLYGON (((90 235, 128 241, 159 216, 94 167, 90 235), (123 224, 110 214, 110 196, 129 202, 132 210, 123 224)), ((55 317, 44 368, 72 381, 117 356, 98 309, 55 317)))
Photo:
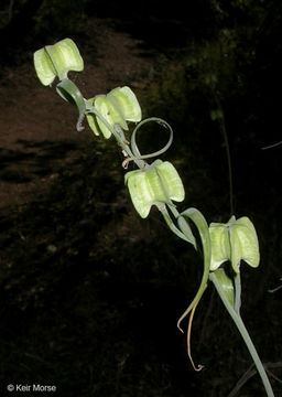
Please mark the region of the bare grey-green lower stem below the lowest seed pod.
POLYGON ((265 373, 265 369, 261 363, 261 360, 257 353, 257 350, 252 343, 252 340, 243 324, 243 321, 241 319, 241 316, 234 310, 234 308, 231 307, 231 304, 229 303, 220 282, 218 281, 217 277, 215 276, 214 272, 209 272, 209 280, 214 283, 224 305, 226 307, 228 313, 230 314, 231 319, 234 320, 238 331, 240 332, 248 350, 249 353, 253 360, 253 363, 257 367, 258 373, 260 374, 261 380, 263 383, 264 389, 267 391, 268 397, 274 397, 271 384, 269 382, 268 375, 265 373))

